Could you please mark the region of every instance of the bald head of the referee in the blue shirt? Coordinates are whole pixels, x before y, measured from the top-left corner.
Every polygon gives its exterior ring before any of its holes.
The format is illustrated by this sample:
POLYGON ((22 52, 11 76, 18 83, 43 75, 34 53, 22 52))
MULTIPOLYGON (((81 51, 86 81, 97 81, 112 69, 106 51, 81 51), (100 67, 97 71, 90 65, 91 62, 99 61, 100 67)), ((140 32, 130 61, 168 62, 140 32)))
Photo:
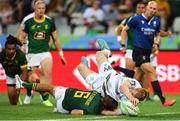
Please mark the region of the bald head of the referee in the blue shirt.
POLYGON ((158 4, 156 1, 148 2, 146 6, 145 16, 148 19, 151 19, 153 16, 157 14, 158 4))

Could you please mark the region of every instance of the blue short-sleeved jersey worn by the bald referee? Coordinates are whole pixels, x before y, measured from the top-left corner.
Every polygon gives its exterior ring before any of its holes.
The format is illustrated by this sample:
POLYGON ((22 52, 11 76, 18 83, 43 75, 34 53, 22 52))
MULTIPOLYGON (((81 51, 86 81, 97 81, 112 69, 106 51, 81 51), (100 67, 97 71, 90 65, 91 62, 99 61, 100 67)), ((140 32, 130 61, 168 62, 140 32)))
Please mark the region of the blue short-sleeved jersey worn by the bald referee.
POLYGON ((156 16, 150 20, 144 14, 134 16, 129 22, 128 27, 134 31, 134 46, 151 49, 154 36, 160 31, 160 19, 156 16))

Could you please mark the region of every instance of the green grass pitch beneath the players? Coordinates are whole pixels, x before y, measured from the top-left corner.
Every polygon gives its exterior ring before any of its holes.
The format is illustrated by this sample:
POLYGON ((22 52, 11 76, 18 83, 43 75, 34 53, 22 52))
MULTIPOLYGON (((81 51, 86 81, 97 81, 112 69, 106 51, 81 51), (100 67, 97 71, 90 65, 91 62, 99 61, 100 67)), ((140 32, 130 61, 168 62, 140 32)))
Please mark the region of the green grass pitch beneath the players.
MULTIPOLYGON (((30 105, 11 106, 6 93, 0 93, 0 120, 180 120, 180 95, 166 95, 176 99, 172 107, 162 107, 160 102, 146 101, 139 105, 138 116, 75 116, 53 113, 54 107, 45 107, 35 93, 30 105)), ((21 94, 24 99, 25 94, 21 94)), ((54 103, 54 99, 50 100, 54 103)))

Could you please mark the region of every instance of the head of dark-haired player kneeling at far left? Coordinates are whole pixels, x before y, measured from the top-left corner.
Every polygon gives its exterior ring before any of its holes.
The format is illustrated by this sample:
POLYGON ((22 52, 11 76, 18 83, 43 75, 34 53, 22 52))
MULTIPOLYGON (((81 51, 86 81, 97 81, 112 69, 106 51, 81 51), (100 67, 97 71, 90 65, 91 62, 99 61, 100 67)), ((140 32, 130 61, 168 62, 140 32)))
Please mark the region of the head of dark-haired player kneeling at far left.
POLYGON ((7 41, 5 43, 5 51, 8 58, 13 58, 16 54, 16 44, 18 40, 17 38, 9 35, 7 37, 7 41))

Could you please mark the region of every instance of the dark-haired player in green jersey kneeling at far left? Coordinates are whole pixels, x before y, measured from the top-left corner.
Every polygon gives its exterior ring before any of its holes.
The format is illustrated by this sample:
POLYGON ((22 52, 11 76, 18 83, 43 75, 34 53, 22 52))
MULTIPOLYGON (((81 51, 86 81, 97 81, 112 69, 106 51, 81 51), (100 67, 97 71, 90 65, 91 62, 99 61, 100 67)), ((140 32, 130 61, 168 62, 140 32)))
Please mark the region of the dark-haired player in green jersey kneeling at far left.
POLYGON ((9 102, 17 105, 20 90, 16 89, 15 75, 19 75, 23 81, 27 80, 27 60, 25 54, 16 48, 17 39, 11 35, 7 37, 5 49, 0 52, 0 63, 6 73, 6 84, 9 102))

